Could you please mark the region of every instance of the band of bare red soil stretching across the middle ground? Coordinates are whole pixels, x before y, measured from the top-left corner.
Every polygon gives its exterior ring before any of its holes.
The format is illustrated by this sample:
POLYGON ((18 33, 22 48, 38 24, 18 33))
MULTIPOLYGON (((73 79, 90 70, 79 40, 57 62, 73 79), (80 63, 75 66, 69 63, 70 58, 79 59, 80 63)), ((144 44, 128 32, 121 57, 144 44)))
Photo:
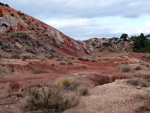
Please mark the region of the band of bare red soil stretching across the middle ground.
MULTIPOLYGON (((111 72, 110 75, 112 75, 112 73, 114 74, 116 70, 118 70, 117 64, 115 64, 115 62, 122 62, 127 60, 127 58, 122 57, 108 59, 97 63, 80 61, 80 63, 74 65, 59 65, 58 61, 52 59, 47 63, 40 61, 31 61, 26 65, 11 64, 14 72, 17 74, 6 76, 0 79, 0 83, 10 82, 12 89, 19 90, 19 88, 22 86, 36 86, 41 82, 48 85, 59 77, 75 76, 74 73, 77 73, 77 76, 82 76, 82 74, 80 73, 87 73, 89 79, 95 81, 97 85, 104 84, 110 82, 110 77, 105 76, 101 78, 103 76, 103 72, 111 72), (51 65, 52 62, 55 64, 55 66, 51 65), (47 73, 33 74, 33 71, 36 69, 47 71, 47 73), (99 73, 100 76, 95 76, 95 74, 89 73, 99 73)), ((118 76, 115 76, 115 74, 112 76, 114 76, 111 78, 112 81, 118 78, 118 76)))

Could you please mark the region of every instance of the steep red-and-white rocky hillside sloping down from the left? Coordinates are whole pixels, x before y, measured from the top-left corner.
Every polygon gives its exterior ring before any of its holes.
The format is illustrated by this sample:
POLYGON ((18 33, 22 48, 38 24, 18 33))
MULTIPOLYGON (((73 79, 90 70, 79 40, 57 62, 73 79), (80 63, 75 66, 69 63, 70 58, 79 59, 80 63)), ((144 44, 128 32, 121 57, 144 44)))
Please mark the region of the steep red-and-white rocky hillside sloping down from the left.
POLYGON ((0 56, 87 55, 79 41, 31 16, 0 3, 0 56))

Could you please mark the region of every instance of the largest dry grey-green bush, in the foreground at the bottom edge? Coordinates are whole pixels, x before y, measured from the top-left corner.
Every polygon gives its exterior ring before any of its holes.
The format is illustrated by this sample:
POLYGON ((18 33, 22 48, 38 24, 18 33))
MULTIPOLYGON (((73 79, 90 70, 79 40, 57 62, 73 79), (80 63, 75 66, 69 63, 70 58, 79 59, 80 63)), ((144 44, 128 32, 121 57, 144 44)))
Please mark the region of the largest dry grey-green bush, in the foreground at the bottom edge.
POLYGON ((78 98, 67 98, 58 87, 42 88, 40 90, 32 89, 29 92, 29 98, 26 101, 24 110, 60 113, 75 107, 77 104, 78 98))

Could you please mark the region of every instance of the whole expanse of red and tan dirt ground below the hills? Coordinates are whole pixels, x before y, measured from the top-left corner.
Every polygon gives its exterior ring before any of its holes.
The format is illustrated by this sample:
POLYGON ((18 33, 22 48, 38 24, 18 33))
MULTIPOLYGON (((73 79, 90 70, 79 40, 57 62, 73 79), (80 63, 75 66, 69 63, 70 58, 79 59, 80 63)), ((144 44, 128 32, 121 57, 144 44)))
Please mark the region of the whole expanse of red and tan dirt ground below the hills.
POLYGON ((150 77, 149 63, 141 58, 141 54, 126 54, 89 57, 88 61, 67 57, 46 61, 0 59, 0 65, 7 70, 4 72, 7 75, 0 77, 0 113, 23 112, 21 106, 28 87, 49 86, 59 77, 68 77, 89 89, 89 95, 81 97, 79 105, 66 113, 134 113, 144 104, 144 100, 136 96, 144 96, 150 91, 149 87, 137 89, 126 84, 126 79, 133 76, 150 77), (119 68, 124 64, 132 70, 121 72, 119 68), (137 66, 141 69, 135 70, 137 66), (7 97, 9 90, 11 96, 7 97))

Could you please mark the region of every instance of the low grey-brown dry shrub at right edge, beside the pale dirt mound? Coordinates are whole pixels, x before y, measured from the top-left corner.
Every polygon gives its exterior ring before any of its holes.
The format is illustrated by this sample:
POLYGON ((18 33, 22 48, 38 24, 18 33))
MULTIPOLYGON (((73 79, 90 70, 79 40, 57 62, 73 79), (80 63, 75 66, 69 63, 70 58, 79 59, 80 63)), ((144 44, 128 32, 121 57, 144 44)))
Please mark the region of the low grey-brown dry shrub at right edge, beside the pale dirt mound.
POLYGON ((149 87, 150 82, 147 79, 144 78, 131 78, 127 80, 127 84, 131 84, 134 86, 141 86, 141 87, 149 87))

